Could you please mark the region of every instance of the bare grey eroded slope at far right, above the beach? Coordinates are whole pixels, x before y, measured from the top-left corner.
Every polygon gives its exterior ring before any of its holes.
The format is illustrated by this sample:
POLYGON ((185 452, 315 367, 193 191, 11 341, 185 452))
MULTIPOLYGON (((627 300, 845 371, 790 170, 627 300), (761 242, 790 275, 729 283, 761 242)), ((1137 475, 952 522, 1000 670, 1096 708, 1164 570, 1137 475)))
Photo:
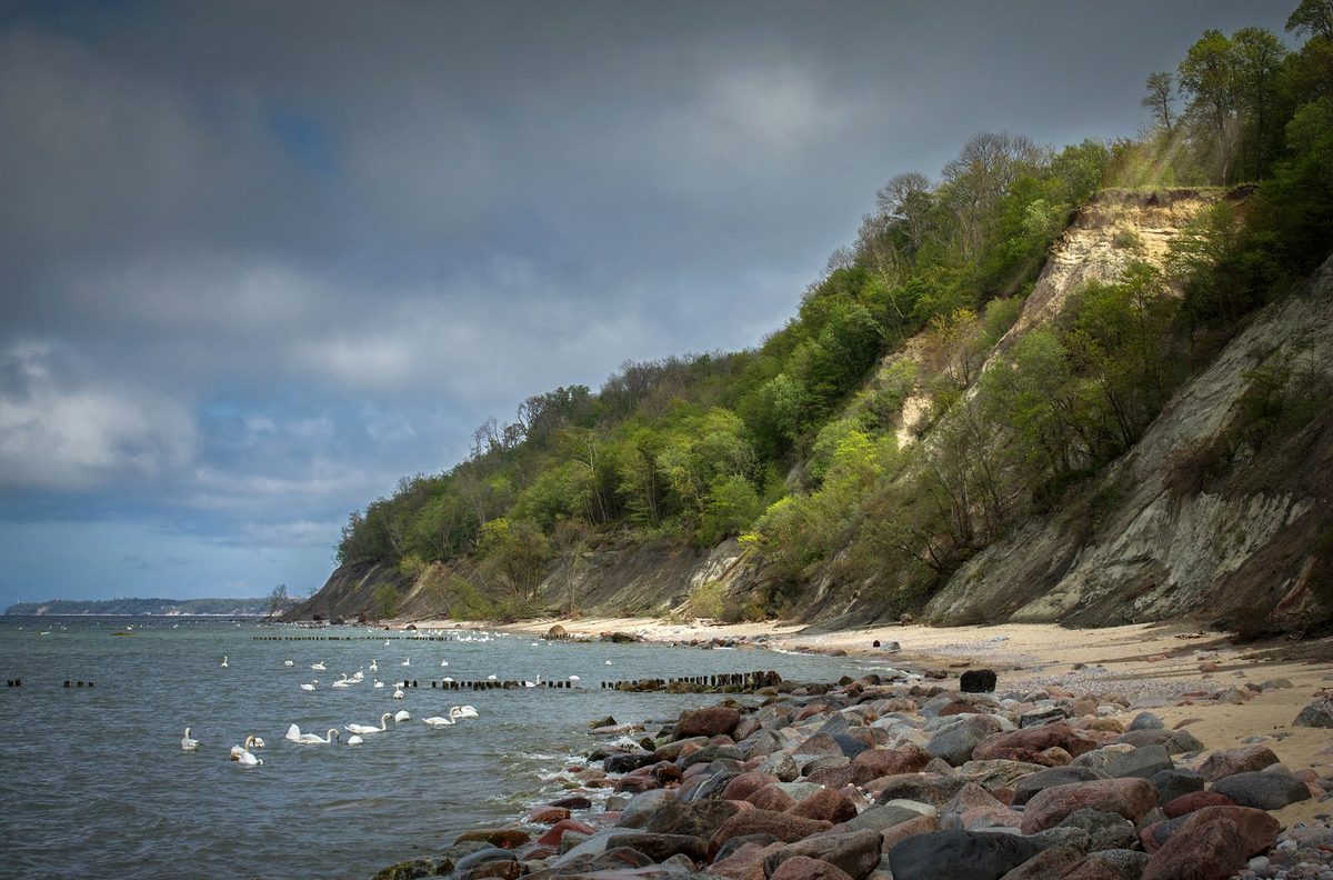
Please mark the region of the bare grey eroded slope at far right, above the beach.
POLYGON ((944 623, 1117 624, 1198 615, 1304 628, 1333 616, 1321 556, 1333 529, 1333 403, 1200 491, 1169 477, 1233 420, 1265 364, 1333 363, 1333 259, 1260 313, 1172 400, 1076 509, 1028 523, 958 571, 926 607, 944 623))

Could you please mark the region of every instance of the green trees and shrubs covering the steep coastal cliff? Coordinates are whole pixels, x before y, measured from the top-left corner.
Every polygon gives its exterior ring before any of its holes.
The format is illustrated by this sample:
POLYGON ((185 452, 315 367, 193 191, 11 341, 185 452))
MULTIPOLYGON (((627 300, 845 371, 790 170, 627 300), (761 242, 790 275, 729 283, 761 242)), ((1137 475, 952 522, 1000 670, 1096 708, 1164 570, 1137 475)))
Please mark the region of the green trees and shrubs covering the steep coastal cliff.
MULTIPOLYGON (((1205 31, 1146 76, 1137 137, 985 132, 933 177, 889 177, 754 349, 627 363, 488 420, 465 461, 351 515, 339 561, 396 573, 367 611, 392 616, 425 576, 455 616, 535 613, 552 572, 573 577, 593 548, 733 537, 762 577, 742 599, 696 589, 696 613, 789 613, 816 569, 872 584, 892 612, 920 607, 1026 517, 1086 496, 1328 256, 1333 4, 1302 0, 1286 29, 1205 31), (1120 233, 1117 277, 1012 335, 1053 245, 1108 192, 1205 207, 1162 253, 1120 233)), ((1329 393, 1324 365, 1266 363, 1242 417, 1172 461, 1173 491, 1300 431, 1329 393)))

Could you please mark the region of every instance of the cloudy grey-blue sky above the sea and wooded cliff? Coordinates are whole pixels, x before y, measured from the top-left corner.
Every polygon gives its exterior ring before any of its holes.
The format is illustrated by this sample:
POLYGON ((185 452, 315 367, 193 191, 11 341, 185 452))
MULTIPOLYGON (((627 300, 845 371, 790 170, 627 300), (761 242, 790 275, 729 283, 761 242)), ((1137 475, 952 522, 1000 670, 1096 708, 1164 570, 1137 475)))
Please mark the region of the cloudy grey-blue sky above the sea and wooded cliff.
POLYGON ((1294 0, 0 0, 0 607, 321 585, 488 416, 758 344, 890 176, 1294 0))

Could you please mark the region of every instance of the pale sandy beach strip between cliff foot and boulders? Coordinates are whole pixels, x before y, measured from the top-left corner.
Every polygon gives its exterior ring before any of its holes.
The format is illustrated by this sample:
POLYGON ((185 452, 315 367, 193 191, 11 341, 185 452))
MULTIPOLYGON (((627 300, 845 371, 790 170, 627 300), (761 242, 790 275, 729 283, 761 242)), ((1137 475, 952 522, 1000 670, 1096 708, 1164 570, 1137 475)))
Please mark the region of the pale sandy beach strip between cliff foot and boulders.
MULTIPOLYGON (((1061 687, 1117 692, 1133 700, 1125 721, 1150 708, 1166 727, 1188 725, 1209 751, 1261 741, 1293 771, 1333 772, 1333 731, 1293 727, 1296 715, 1321 692, 1333 689, 1333 639, 1236 645, 1224 632, 1186 623, 1133 624, 1069 629, 1056 624, 996 627, 894 625, 872 629, 808 632, 800 625, 748 623, 713 625, 651 617, 545 619, 509 624, 509 632, 545 633, 560 624, 572 636, 628 632, 648 641, 736 640, 788 651, 884 653, 890 641, 894 665, 946 669, 994 669, 997 692, 1061 687), (878 640, 881 648, 874 648, 878 640), (1080 668, 1074 668, 1082 664, 1080 668), (1216 665, 1216 669, 1213 668, 1216 665), (1286 679, 1292 687, 1265 689, 1241 703, 1206 696, 1225 688, 1286 679), (1262 737, 1262 739, 1256 739, 1262 737)), ((455 620, 417 621, 420 628, 487 627, 455 620)), ((946 681, 942 684, 948 684, 946 681)), ((1205 753, 1206 755, 1206 753, 1205 753)), ((1204 756, 1200 756, 1200 760, 1204 756)), ((1333 812, 1304 801, 1274 816, 1284 825, 1333 812)))

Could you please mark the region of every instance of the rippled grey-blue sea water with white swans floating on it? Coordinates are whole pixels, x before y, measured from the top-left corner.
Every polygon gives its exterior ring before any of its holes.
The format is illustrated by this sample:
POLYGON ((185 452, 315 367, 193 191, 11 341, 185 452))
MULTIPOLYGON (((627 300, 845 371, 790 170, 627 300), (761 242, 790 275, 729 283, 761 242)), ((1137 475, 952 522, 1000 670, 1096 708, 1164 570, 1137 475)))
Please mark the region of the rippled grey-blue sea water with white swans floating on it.
MULTIPOLYGON (((668 719, 710 699, 607 692, 597 689, 601 680, 777 669, 828 681, 876 668, 766 651, 512 635, 255 639, 307 632, 199 619, 0 617, 0 677, 23 679, 21 688, 0 691, 0 876, 367 877, 448 845, 465 828, 515 819, 559 796, 552 776, 571 753, 589 748, 591 719, 668 719), (327 671, 312 671, 315 663, 327 671), (359 668, 363 684, 329 687, 359 668), (429 687, 444 676, 489 675, 577 675, 581 687, 429 687), (373 688, 372 677, 385 687, 373 688), (393 700, 393 681, 403 677, 420 687, 393 700), (65 679, 96 687, 64 689, 65 679), (312 679, 319 689, 301 691, 312 679), (475 705, 480 717, 441 729, 421 724, 453 704, 475 705), (364 745, 284 740, 293 723, 323 735, 348 723, 377 725, 383 712, 399 709, 412 720, 391 723, 364 745), (187 725, 201 743, 197 752, 180 748, 187 725), (256 751, 263 767, 228 760, 249 733, 267 743, 256 751)), ((372 633, 335 627, 320 635, 372 633)))

